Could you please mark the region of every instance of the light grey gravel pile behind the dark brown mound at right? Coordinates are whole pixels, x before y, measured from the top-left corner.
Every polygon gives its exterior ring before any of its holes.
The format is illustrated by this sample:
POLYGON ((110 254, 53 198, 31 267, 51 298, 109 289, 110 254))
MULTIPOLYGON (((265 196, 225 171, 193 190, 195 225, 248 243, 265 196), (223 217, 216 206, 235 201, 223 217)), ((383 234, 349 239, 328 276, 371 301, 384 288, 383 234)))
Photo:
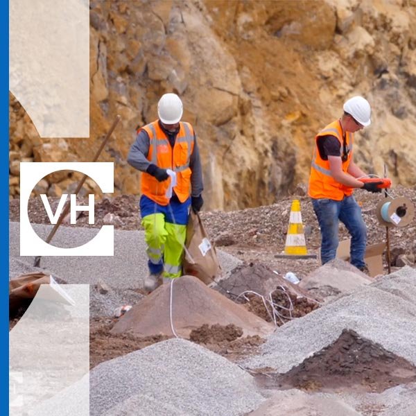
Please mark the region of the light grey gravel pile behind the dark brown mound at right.
POLYGON ((416 364, 416 270, 403 268, 350 295, 288 322, 272 333, 261 354, 245 361, 251 368, 285 373, 333 343, 343 329, 416 364))

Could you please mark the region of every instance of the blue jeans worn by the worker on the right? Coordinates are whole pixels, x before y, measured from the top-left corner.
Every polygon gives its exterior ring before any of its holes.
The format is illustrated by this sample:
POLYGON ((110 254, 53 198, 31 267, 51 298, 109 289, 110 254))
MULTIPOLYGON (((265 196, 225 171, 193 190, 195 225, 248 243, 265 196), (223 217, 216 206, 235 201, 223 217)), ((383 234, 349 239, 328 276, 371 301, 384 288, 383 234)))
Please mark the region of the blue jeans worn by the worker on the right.
POLYGON ((338 248, 338 224, 345 224, 351 234, 350 262, 356 268, 365 266, 364 254, 367 243, 367 227, 361 215, 354 196, 345 196, 343 200, 336 201, 327 198, 312 198, 313 211, 318 217, 322 245, 322 264, 335 259, 338 248))

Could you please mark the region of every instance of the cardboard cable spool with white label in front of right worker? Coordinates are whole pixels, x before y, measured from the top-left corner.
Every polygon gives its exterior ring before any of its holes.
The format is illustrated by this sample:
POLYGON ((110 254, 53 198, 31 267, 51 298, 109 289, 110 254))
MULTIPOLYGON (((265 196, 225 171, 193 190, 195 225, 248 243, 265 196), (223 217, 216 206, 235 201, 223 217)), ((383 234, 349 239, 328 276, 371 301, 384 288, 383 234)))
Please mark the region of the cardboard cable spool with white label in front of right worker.
POLYGON ((385 198, 376 207, 379 223, 385 227, 406 227, 415 216, 415 207, 408 198, 385 198))

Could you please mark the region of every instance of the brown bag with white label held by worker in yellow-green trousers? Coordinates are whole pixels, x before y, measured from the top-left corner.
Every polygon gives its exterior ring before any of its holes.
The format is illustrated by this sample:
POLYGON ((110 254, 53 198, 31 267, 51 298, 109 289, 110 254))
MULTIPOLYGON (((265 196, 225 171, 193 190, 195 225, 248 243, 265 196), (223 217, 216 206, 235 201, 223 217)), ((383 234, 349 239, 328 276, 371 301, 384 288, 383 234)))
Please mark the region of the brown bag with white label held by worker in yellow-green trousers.
POLYGON ((184 275, 198 277, 205 284, 220 276, 221 268, 214 245, 211 245, 199 214, 189 213, 183 261, 184 275))

